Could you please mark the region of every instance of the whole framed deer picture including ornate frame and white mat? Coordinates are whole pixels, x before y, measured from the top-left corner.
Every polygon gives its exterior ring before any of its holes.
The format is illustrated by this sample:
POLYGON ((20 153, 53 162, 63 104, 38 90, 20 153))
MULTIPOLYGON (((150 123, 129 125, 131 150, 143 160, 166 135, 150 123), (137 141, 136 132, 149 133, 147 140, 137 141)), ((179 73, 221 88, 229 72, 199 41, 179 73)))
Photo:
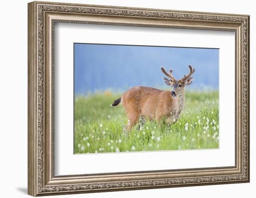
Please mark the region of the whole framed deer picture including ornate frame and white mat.
POLYGON ((28 194, 249 182, 249 16, 28 4, 28 194))

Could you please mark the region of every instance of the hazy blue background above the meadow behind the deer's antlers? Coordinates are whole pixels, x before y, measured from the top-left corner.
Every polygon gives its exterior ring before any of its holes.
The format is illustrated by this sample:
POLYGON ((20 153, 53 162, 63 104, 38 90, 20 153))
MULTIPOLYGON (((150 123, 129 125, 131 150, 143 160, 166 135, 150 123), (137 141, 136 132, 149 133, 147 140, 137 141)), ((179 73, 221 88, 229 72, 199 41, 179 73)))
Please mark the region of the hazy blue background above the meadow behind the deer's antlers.
POLYGON ((74 93, 136 85, 167 87, 160 67, 173 69, 176 79, 195 67, 191 89, 201 85, 218 89, 219 50, 133 45, 74 44, 74 93))

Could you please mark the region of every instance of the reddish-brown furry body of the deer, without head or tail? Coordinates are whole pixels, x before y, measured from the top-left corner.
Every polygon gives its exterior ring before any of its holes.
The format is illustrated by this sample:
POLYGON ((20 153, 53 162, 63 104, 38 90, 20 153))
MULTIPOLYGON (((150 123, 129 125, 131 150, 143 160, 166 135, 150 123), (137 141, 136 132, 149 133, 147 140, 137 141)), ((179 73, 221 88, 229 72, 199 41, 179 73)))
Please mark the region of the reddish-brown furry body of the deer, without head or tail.
POLYGON ((133 128, 139 121, 140 115, 160 122, 162 118, 167 118, 168 123, 176 121, 185 103, 185 91, 182 96, 173 98, 171 91, 164 91, 151 87, 136 86, 128 89, 121 96, 128 124, 127 130, 133 128))

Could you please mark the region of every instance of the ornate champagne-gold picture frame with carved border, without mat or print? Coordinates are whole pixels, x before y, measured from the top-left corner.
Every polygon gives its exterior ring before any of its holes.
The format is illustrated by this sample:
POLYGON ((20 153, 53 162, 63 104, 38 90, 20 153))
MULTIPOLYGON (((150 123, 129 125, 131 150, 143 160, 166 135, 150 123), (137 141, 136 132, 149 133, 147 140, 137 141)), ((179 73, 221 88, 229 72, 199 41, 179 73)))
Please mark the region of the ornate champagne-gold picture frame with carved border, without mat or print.
POLYGON ((32 196, 249 182, 249 16, 52 2, 28 4, 28 194, 32 196), (54 23, 236 34, 235 166, 54 175, 54 23))

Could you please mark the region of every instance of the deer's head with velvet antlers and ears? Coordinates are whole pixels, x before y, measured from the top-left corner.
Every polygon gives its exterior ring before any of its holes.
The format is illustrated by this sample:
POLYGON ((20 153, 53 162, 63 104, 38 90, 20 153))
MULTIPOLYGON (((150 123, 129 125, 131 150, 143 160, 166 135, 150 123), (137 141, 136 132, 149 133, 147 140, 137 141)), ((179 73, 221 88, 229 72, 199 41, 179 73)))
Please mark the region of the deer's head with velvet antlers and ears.
POLYGON ((175 77, 172 75, 173 70, 169 70, 167 72, 164 67, 161 67, 162 72, 168 76, 169 78, 163 77, 163 81, 172 87, 171 95, 173 98, 176 96, 181 96, 184 92, 185 86, 189 85, 193 82, 194 78, 191 75, 195 72, 195 68, 189 64, 189 74, 184 75, 183 78, 176 80, 175 77))

